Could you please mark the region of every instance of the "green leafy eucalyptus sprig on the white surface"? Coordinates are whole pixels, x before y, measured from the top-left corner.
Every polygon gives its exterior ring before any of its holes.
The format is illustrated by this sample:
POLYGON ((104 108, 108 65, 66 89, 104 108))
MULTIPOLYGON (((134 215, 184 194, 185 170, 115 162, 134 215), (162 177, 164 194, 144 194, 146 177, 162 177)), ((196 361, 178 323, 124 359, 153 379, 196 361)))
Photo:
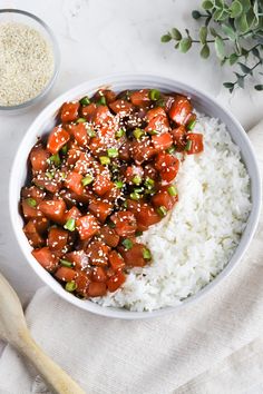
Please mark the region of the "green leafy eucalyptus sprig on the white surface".
POLYGON ((192 17, 203 22, 197 38, 188 29, 182 33, 173 28, 162 42, 176 41, 175 48, 183 53, 199 45, 203 59, 214 47, 221 65, 234 68, 234 81, 223 83, 230 92, 244 88, 245 79, 254 77, 255 71, 262 83, 255 82, 254 88, 263 90, 263 0, 205 0, 202 10, 193 10, 192 17))

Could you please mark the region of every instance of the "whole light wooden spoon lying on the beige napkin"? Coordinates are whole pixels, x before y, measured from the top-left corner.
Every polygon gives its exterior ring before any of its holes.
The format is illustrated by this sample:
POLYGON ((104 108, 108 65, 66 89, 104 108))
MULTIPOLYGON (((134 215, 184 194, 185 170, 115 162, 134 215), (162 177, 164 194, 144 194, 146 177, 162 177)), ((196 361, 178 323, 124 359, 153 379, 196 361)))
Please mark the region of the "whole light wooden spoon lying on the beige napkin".
POLYGON ((20 301, 0 274, 0 338, 26 356, 38 370, 49 388, 57 394, 85 394, 36 344, 27 327, 20 301))

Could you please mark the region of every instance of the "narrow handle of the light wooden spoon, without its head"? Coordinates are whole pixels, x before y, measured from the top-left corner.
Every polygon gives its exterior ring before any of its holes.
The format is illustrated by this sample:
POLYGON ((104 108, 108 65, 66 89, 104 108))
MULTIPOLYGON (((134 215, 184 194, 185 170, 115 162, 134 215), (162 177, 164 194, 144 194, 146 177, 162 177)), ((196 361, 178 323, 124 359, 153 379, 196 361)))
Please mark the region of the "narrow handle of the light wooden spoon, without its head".
POLYGON ((86 394, 82 388, 62 371, 36 344, 28 329, 19 333, 16 347, 38 370, 49 388, 56 394, 86 394))

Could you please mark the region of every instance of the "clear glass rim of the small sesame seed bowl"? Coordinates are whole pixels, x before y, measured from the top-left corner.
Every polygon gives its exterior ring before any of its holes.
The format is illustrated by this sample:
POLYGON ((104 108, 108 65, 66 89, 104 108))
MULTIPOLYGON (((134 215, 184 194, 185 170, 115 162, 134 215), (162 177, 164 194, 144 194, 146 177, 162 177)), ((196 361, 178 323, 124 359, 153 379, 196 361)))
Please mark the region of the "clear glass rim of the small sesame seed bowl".
POLYGON ((16 9, 16 8, 3 8, 0 9, 0 14, 1 13, 18 13, 18 14, 22 14, 25 17, 28 17, 29 19, 35 20, 36 22, 38 22, 48 33, 48 36, 50 37, 50 40, 52 42, 52 53, 53 53, 53 72, 51 78, 49 79, 48 83, 45 86, 45 88, 33 98, 31 98, 30 100, 27 100, 25 102, 18 104, 16 106, 0 106, 0 111, 2 111, 2 114, 4 111, 13 111, 13 110, 19 110, 19 109, 23 109, 27 107, 30 107, 31 105, 35 105, 37 102, 39 102, 47 93, 48 91, 51 89, 51 87, 53 86, 57 77, 58 77, 58 72, 59 72, 59 68, 60 68, 60 61, 61 61, 61 57, 60 57, 60 50, 59 50, 59 46, 58 46, 58 41, 56 39, 55 33, 52 32, 52 30, 50 29, 50 27, 39 17, 35 16, 31 12, 25 11, 25 10, 20 10, 20 9, 16 9))

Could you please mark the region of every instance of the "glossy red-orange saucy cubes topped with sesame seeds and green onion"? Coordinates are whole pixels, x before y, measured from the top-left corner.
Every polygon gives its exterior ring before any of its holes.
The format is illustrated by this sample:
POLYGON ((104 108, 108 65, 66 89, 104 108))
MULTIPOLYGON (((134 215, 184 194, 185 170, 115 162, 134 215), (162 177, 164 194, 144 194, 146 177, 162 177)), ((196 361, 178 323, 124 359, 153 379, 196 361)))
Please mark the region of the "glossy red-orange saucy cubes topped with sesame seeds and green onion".
POLYGON ((29 155, 23 232, 67 292, 99 297, 150 263, 137 237, 177 203, 181 160, 203 151, 203 135, 187 97, 156 89, 100 89, 59 117, 29 155))

